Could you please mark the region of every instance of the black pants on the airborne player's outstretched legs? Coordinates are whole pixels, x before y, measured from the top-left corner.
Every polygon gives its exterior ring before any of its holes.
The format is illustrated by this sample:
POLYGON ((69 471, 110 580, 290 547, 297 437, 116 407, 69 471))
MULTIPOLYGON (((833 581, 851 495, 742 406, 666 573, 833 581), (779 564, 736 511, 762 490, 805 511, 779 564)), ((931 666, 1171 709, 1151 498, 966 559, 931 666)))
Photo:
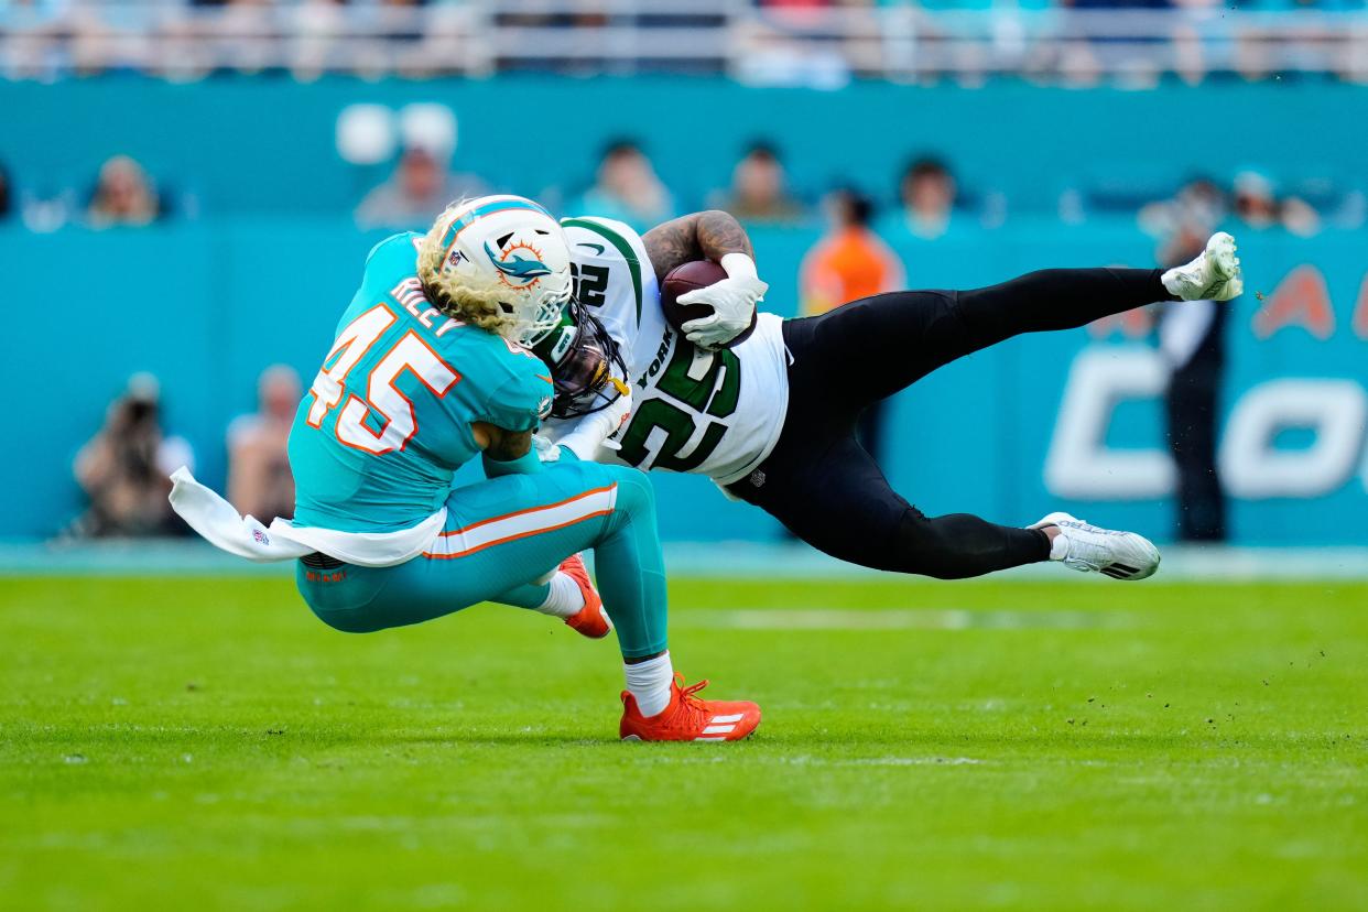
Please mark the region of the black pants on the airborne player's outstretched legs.
POLYGON ((1044 269, 988 289, 895 291, 787 320, 784 431, 774 453, 728 489, 813 547, 867 567, 958 580, 1044 561, 1044 532, 967 513, 922 514, 855 442, 855 423, 870 403, 1003 339, 1171 299, 1159 276, 1044 269))

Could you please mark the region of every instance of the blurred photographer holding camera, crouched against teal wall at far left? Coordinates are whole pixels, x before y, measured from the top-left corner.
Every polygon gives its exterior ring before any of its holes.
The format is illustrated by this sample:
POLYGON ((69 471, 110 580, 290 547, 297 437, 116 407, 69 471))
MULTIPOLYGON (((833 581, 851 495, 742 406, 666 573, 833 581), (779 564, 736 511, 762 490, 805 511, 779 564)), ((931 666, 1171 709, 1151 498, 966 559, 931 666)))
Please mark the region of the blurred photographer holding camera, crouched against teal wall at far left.
POLYGON ((135 373, 109 405, 104 428, 77 454, 75 476, 90 499, 77 520, 83 536, 153 536, 185 532, 171 511, 170 474, 193 466, 182 438, 161 431, 160 386, 150 373, 135 373))

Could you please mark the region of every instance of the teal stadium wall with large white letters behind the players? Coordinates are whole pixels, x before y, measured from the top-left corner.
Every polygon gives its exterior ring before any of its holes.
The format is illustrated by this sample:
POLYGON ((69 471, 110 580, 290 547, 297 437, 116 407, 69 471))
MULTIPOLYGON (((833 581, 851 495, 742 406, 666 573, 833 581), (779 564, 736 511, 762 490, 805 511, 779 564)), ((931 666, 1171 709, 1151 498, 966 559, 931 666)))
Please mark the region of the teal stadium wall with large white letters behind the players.
MULTIPOLYGON (((795 183, 811 190, 856 180, 891 196, 906 159, 934 150, 963 186, 1000 190, 1012 208, 996 230, 960 226, 929 245, 897 239, 910 282, 921 287, 971 287, 1048 265, 1152 265, 1153 245, 1130 219, 1060 226, 1052 206, 1066 180, 1157 197, 1193 171, 1227 175, 1254 163, 1289 180, 1356 186, 1364 180, 1368 131, 1365 92, 1338 85, 1291 94, 1242 85, 1126 93, 1015 83, 858 85, 828 94, 713 81, 538 78, 0 85, 0 161, 21 190, 83 186, 100 160, 127 152, 164 186, 198 201, 197 217, 145 230, 0 227, 0 371, 18 406, 0 453, 5 535, 51 535, 75 514, 71 459, 133 371, 161 377, 168 424, 192 440, 200 474, 213 484, 224 477, 224 428, 252 407, 259 371, 285 361, 305 380, 312 376, 367 249, 383 235, 357 231, 349 215, 383 174, 343 164, 334 148, 337 115, 356 101, 449 104, 460 119, 457 170, 534 194, 583 186, 602 144, 617 135, 646 141, 685 206, 726 180, 737 150, 755 135, 776 138, 795 183), (543 126, 534 133, 536 119, 543 126), (1171 123, 1212 126, 1179 138, 1166 127, 1171 123)), ((798 263, 814 238, 811 227, 755 232, 772 283, 767 309, 796 309, 798 263)), ((1248 287, 1267 299, 1246 294, 1233 305, 1227 424, 1265 399, 1286 410, 1290 397, 1291 409, 1257 453, 1235 454, 1242 459, 1235 468, 1253 477, 1233 502, 1235 537, 1276 544, 1295 529, 1301 544, 1363 544, 1368 232, 1241 241, 1248 287), (1311 386, 1268 387, 1286 379, 1311 386), (1334 414, 1320 417, 1330 424, 1308 431, 1327 402, 1334 414), (1352 454, 1317 459, 1327 447, 1352 454), (1250 457, 1257 458, 1250 464, 1250 457), (1260 488, 1260 472, 1276 476, 1282 464, 1301 479, 1298 496, 1276 495, 1276 484, 1272 496, 1260 488)), ((1144 325, 1116 324, 1023 338, 951 365, 896 398, 891 479, 928 513, 969 510, 1025 524, 1064 507, 1164 537, 1172 505, 1146 474, 1152 459, 1111 488, 1105 479, 1079 487, 1056 442, 1071 369, 1104 358, 1104 368, 1114 362, 1142 388, 1146 345, 1144 325)), ((1096 390, 1082 387, 1096 386, 1089 379, 1096 376, 1077 375, 1081 392, 1073 395, 1088 399, 1096 390)), ((1108 458, 1119 455, 1118 465, 1161 448, 1160 410, 1149 392, 1103 414, 1108 420, 1093 428, 1094 443, 1108 458)), ((657 479, 666 537, 778 533, 767 517, 724 500, 705 480, 657 479)))

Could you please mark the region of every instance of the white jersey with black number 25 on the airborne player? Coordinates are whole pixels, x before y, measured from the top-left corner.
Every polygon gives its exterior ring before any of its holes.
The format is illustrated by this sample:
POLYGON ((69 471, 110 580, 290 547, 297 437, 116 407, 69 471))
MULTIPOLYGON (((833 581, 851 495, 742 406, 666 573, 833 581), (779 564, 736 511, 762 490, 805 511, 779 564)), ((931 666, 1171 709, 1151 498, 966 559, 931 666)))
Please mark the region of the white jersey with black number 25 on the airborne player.
MULTIPOLYGON (((718 484, 769 457, 788 407, 782 320, 762 313, 732 349, 705 351, 665 321, 655 269, 640 235, 611 219, 562 219, 583 304, 622 350, 632 417, 599 459, 642 470, 695 472, 718 484)), ((553 421, 554 438, 572 421, 553 421)))

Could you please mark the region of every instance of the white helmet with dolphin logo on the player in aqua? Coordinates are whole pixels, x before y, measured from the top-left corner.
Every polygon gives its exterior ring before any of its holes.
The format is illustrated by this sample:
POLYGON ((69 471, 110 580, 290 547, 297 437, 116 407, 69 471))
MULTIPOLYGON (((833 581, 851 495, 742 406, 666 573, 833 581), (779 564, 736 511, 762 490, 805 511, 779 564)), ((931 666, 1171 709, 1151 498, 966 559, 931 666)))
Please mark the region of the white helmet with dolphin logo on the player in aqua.
POLYGON ((524 197, 464 200, 438 217, 424 245, 440 250, 440 265, 421 276, 424 283, 453 299, 492 302, 506 317, 499 332, 516 342, 529 343, 555 327, 575 291, 565 231, 524 197))

